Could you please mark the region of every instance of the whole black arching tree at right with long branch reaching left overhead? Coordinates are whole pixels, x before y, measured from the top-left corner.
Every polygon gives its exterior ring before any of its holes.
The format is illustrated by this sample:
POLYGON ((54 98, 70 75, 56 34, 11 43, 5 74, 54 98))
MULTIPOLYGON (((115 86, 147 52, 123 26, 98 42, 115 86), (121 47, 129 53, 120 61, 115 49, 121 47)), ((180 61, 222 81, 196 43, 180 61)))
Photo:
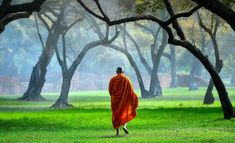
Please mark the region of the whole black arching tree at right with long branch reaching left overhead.
POLYGON ((204 65, 204 67, 210 73, 211 77, 213 78, 214 83, 216 83, 215 87, 216 87, 217 92, 219 94, 220 102, 221 102, 222 109, 224 112, 224 118, 231 119, 234 116, 232 104, 229 100, 228 93, 226 91, 226 88, 225 88, 223 81, 221 80, 219 74, 216 72, 215 68, 210 63, 208 58, 200 50, 198 50, 196 48, 196 46, 194 46, 193 44, 191 44, 189 41, 186 40, 183 30, 180 27, 179 23, 177 22, 177 18, 189 17, 196 10, 198 10, 201 6, 196 6, 193 9, 191 9, 189 12, 175 14, 172 10, 171 3, 168 0, 164 0, 164 5, 166 6, 167 11, 170 15, 170 19, 165 22, 152 16, 152 15, 132 16, 132 17, 127 17, 127 18, 122 18, 122 19, 110 20, 109 17, 103 11, 103 9, 99 3, 99 0, 93 0, 93 1, 96 3, 101 15, 99 15, 99 14, 95 13, 94 11, 92 11, 91 9, 89 9, 86 6, 86 4, 83 3, 82 0, 77 0, 77 1, 90 14, 105 21, 109 25, 117 25, 117 24, 121 24, 121 23, 125 23, 125 22, 133 22, 133 21, 138 21, 138 20, 151 20, 151 21, 157 22, 162 28, 164 28, 167 31, 168 37, 169 37, 168 38, 169 44, 174 44, 174 45, 181 46, 181 47, 187 49, 196 58, 198 58, 200 60, 200 62, 204 65), (172 32, 172 27, 169 27, 169 24, 172 24, 173 29, 176 30, 176 33, 180 37, 180 39, 176 39, 174 37, 173 32, 172 32))

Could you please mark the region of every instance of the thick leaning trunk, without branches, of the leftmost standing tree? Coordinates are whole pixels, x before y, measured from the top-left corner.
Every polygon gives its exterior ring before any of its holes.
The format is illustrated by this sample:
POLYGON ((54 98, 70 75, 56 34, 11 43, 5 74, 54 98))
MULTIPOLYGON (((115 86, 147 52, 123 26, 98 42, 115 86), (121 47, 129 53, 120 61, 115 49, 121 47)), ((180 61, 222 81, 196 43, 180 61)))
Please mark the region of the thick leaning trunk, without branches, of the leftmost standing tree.
POLYGON ((28 89, 24 93, 24 95, 19 98, 19 100, 45 100, 45 98, 41 96, 41 91, 46 81, 45 77, 47 73, 47 66, 50 63, 51 58, 54 54, 54 46, 56 46, 60 35, 59 31, 54 31, 53 33, 50 33, 48 35, 46 47, 45 49, 43 49, 42 54, 31 73, 28 89))

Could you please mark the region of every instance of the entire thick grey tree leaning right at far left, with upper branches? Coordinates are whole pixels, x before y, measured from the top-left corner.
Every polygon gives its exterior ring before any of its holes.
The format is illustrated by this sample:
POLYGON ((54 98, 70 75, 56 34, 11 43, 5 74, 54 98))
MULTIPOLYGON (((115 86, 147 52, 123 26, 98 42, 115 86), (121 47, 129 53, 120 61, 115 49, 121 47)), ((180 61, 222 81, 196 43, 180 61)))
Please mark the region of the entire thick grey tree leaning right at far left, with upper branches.
POLYGON ((63 11, 60 10, 59 13, 54 11, 57 8, 62 9, 64 4, 61 3, 59 6, 55 5, 55 3, 53 2, 47 4, 48 5, 44 6, 44 9, 42 9, 42 11, 37 15, 39 19, 43 22, 44 26, 48 31, 47 40, 45 45, 43 44, 43 41, 41 41, 43 45, 42 47, 44 48, 42 50, 38 62, 33 67, 28 88, 26 92, 23 94, 23 96, 19 98, 19 100, 26 100, 26 101, 45 100, 45 98, 41 96, 41 91, 46 81, 45 78, 47 73, 47 66, 50 63, 52 56, 54 55, 54 47, 57 45, 59 36, 64 30, 63 25, 61 25, 62 21, 61 17, 64 14, 63 11), (55 7, 53 8, 53 6, 55 7), (57 19, 54 21, 52 18, 49 17, 48 13, 57 17, 57 19), (51 23, 52 25, 50 26, 51 23))

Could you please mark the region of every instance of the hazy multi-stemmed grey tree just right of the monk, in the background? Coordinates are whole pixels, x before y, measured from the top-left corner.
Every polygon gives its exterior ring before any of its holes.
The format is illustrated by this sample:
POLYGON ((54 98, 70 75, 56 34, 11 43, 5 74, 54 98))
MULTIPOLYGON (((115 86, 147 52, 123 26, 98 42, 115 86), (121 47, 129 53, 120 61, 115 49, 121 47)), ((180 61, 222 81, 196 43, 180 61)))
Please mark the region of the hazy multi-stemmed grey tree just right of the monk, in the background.
MULTIPOLYGON (((160 81, 158 79, 158 75, 152 74, 152 72, 157 73, 157 71, 153 71, 153 67, 154 66, 156 66, 157 68, 159 67, 160 58, 163 55, 164 48, 166 47, 166 44, 167 44, 167 34, 164 31, 161 32, 162 40, 159 41, 159 43, 161 43, 161 44, 160 44, 160 46, 158 46, 157 41, 159 39, 159 31, 161 30, 160 27, 158 28, 157 31, 153 31, 153 30, 151 30, 151 28, 146 26, 146 24, 143 25, 143 24, 140 24, 140 23, 135 23, 134 26, 138 26, 141 29, 144 29, 144 30, 148 31, 154 39, 153 44, 151 44, 151 48, 149 48, 150 53, 151 53, 151 62, 152 62, 153 66, 150 66, 150 64, 147 62, 147 59, 144 57, 144 55, 141 52, 141 48, 140 48, 141 46, 138 44, 137 40, 128 32, 128 31, 130 31, 129 30, 130 28, 127 29, 126 25, 118 26, 119 29, 121 30, 121 32, 123 32, 122 37, 123 37, 123 43, 124 43, 125 49, 123 49, 119 46, 113 45, 113 44, 112 44, 112 46, 109 46, 109 47, 123 53, 127 57, 127 59, 129 60, 129 63, 131 64, 131 66, 133 67, 133 69, 135 70, 135 73, 137 75, 137 79, 138 79, 138 82, 139 82, 139 87, 140 87, 140 90, 141 90, 141 97, 149 98, 149 97, 161 96, 162 95, 162 89, 161 89, 161 86, 160 86, 160 81), (136 51, 138 53, 138 56, 140 58, 140 61, 141 61, 142 65, 144 66, 145 70, 147 71, 147 73, 151 77, 152 82, 150 82, 150 89, 149 90, 146 90, 146 88, 144 86, 144 82, 142 80, 142 76, 140 74, 140 70, 139 70, 137 64, 133 61, 133 58, 132 58, 130 52, 127 50, 128 49, 127 48, 127 40, 128 39, 126 37, 133 43, 134 47, 136 48, 136 51)), ((167 54, 165 53, 164 55, 166 56, 167 54)), ((167 55, 167 57, 171 61, 171 56, 167 55)), ((157 68, 155 70, 157 70, 157 68)))

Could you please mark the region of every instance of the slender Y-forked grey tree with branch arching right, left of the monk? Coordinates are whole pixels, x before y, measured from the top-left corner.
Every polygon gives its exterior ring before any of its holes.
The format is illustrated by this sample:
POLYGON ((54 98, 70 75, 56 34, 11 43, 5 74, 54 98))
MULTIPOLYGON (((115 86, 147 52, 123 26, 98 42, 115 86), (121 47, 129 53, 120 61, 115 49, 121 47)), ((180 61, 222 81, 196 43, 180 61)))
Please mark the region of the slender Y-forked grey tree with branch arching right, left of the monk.
MULTIPOLYGON (((91 26, 97 26, 97 24, 91 25, 91 26)), ((66 33, 67 32, 68 32, 68 30, 64 31, 62 33, 62 43, 63 43, 62 54, 60 54, 58 46, 55 47, 57 61, 60 65, 61 71, 62 71, 62 87, 61 87, 60 96, 57 99, 57 101, 52 105, 52 107, 55 107, 55 108, 64 108, 64 107, 71 107, 72 106, 71 104, 68 103, 68 94, 69 94, 71 79, 72 79, 77 67, 82 62, 82 59, 84 58, 86 53, 89 50, 91 50, 97 46, 112 43, 119 35, 119 32, 116 31, 115 36, 113 36, 111 39, 109 39, 109 33, 110 33, 109 27, 106 26, 105 36, 102 36, 102 37, 99 36, 98 40, 92 41, 92 42, 86 44, 84 46, 84 48, 82 48, 82 50, 78 54, 78 56, 75 58, 75 60, 72 61, 71 65, 68 66, 68 63, 67 63, 68 54, 66 52, 67 51, 67 47, 66 47, 66 33)))

